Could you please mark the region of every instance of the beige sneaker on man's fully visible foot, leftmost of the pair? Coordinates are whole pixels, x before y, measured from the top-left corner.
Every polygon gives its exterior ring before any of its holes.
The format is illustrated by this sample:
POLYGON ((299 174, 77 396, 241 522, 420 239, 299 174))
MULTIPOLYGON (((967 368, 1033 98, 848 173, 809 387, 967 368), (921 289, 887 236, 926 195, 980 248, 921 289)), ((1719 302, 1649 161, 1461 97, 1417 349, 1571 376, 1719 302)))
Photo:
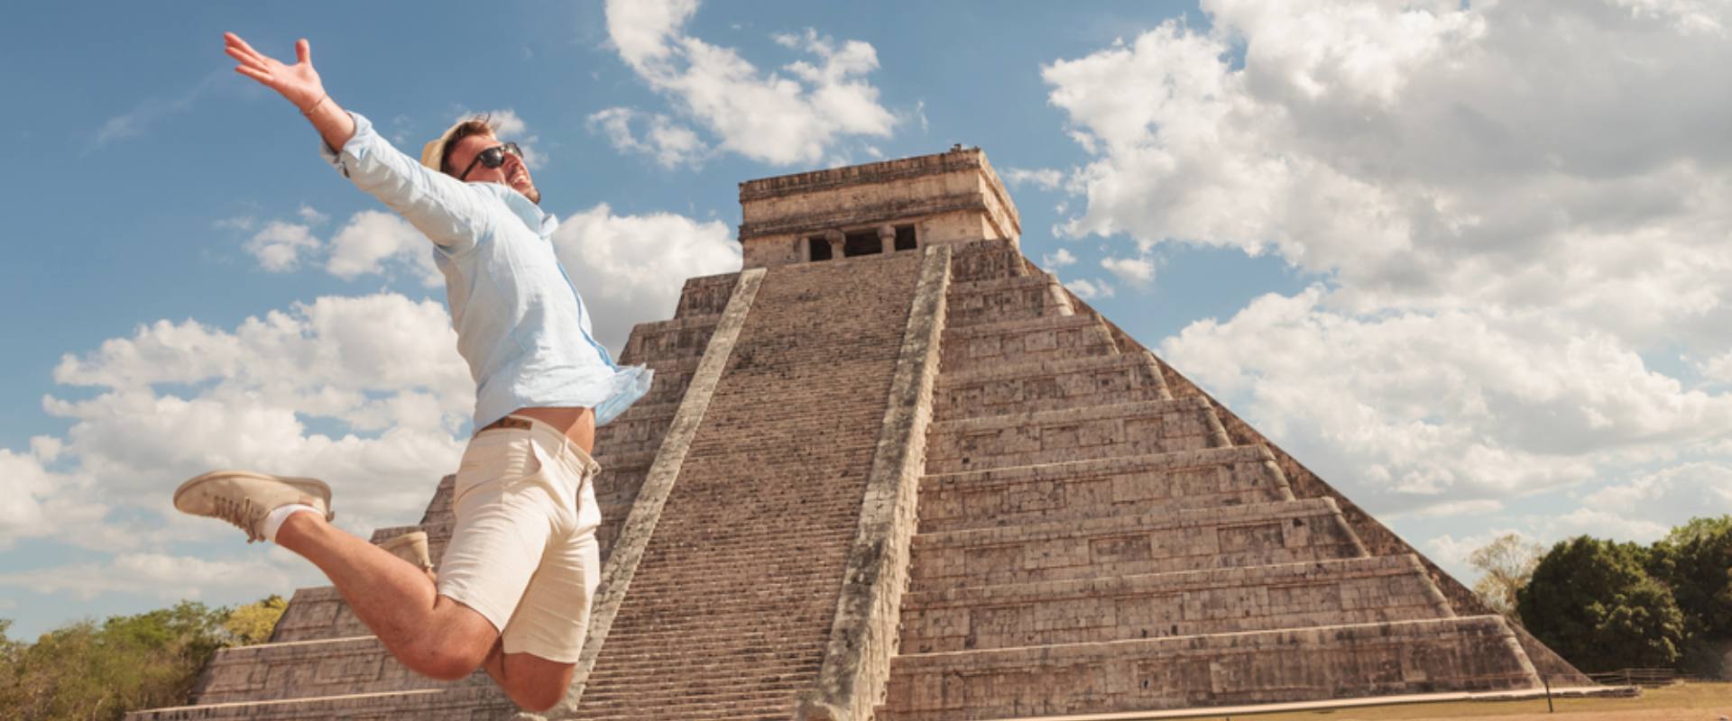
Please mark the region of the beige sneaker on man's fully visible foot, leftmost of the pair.
POLYGON ((310 505, 326 520, 336 517, 331 512, 331 486, 319 479, 211 470, 175 489, 175 508, 236 524, 246 531, 246 543, 263 539, 265 517, 289 503, 310 505))

